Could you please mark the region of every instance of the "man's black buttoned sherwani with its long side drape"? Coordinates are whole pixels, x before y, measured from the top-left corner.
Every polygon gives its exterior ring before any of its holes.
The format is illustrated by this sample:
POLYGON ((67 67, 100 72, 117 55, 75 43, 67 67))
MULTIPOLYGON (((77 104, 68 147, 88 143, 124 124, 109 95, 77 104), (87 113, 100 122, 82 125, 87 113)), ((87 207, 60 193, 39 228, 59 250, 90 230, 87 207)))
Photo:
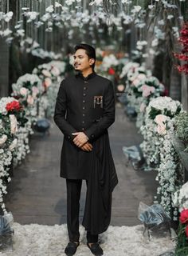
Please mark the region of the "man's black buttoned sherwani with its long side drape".
POLYGON ((112 82, 94 71, 87 78, 80 72, 65 78, 53 118, 65 135, 61 177, 88 180, 83 225, 92 234, 102 233, 110 222, 112 190, 118 182, 108 138, 108 127, 115 121, 112 82), (81 150, 72 142, 72 133, 78 131, 88 136, 92 151, 81 150))

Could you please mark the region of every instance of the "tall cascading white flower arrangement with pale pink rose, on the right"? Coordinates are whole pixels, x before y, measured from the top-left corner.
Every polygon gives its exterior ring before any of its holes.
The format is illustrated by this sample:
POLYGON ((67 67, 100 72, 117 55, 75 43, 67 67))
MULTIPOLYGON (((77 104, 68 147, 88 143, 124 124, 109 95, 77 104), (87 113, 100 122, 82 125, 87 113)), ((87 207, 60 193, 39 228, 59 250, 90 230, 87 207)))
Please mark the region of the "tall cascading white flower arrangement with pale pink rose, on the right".
POLYGON ((160 204, 174 220, 177 219, 177 210, 173 209, 171 197, 181 184, 178 182, 181 169, 178 168, 178 154, 171 136, 174 134, 174 117, 181 111, 181 103, 170 97, 154 98, 146 108, 145 125, 140 128, 143 134, 140 147, 147 161, 146 170, 158 170, 156 180, 159 182, 160 204))

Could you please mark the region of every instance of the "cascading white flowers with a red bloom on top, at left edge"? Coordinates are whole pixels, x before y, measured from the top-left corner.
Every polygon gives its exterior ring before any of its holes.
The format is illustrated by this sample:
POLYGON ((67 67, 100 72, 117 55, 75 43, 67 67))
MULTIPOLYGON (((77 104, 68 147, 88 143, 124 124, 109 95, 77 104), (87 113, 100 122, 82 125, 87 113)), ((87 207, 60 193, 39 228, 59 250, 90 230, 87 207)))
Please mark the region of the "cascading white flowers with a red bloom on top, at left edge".
POLYGON ((3 195, 7 193, 6 182, 10 182, 10 165, 18 146, 16 136, 19 126, 27 122, 23 106, 12 97, 0 99, 0 205, 6 213, 3 195))

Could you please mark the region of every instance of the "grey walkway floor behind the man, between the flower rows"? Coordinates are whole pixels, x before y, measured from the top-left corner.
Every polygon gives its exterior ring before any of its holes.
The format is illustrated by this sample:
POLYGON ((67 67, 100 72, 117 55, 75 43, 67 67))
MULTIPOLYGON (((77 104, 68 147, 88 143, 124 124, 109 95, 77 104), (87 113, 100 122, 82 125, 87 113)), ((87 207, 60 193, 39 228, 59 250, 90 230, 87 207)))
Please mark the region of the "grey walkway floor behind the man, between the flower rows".
MULTIPOLYGON (((156 192, 155 171, 136 171, 123 155, 123 146, 142 142, 135 123, 130 122, 123 108, 116 106, 116 122, 108 129, 112 155, 119 184, 112 198, 112 226, 134 226, 139 202, 151 204, 156 192)), ((34 134, 30 141, 31 153, 14 170, 8 186, 6 209, 20 224, 54 225, 66 223, 66 186, 60 178, 60 156, 63 134, 52 120, 50 134, 34 134)), ((84 214, 86 186, 83 182, 80 199, 80 221, 84 214)))

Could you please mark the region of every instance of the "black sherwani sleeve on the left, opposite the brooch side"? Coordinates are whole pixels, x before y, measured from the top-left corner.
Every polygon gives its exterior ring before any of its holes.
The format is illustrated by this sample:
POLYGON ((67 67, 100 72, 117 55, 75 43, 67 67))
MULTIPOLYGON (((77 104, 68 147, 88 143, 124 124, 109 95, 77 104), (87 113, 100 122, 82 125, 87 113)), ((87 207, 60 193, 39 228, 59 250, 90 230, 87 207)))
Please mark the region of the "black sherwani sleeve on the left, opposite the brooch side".
POLYGON ((61 132, 72 141, 75 138, 72 133, 76 133, 76 129, 65 119, 67 111, 67 95, 65 91, 65 80, 61 82, 59 91, 57 93, 57 102, 55 106, 55 112, 53 120, 61 130, 61 132))

